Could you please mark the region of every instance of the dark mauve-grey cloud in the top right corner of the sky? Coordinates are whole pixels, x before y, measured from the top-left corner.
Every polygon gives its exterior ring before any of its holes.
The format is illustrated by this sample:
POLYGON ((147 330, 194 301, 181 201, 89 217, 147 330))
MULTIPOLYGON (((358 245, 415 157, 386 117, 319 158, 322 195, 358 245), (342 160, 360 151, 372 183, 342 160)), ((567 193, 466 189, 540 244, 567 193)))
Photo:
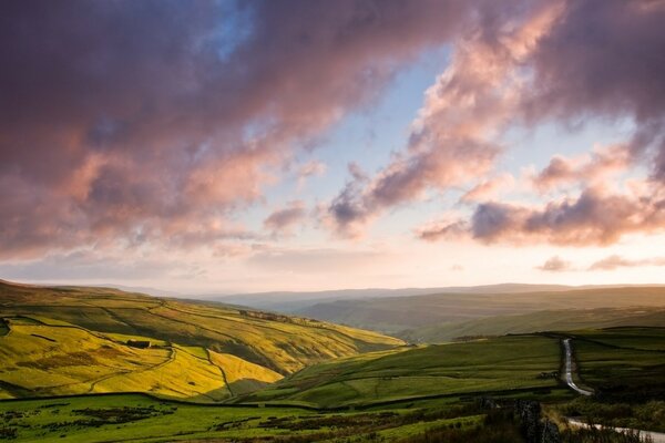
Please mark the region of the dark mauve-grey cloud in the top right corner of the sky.
POLYGON ((589 116, 637 122, 631 147, 665 179, 665 51, 661 1, 567 1, 531 59, 534 85, 521 105, 531 122, 589 116))

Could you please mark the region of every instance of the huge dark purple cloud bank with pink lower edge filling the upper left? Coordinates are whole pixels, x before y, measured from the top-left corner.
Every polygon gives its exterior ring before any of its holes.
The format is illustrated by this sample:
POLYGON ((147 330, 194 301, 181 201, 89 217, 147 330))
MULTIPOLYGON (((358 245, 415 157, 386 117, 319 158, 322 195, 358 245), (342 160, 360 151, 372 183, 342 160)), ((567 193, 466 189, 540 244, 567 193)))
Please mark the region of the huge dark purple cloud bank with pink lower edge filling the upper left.
POLYGON ((0 182, 20 190, 0 199, 2 256, 225 230, 295 150, 376 100, 473 8, 3 3, 0 182))

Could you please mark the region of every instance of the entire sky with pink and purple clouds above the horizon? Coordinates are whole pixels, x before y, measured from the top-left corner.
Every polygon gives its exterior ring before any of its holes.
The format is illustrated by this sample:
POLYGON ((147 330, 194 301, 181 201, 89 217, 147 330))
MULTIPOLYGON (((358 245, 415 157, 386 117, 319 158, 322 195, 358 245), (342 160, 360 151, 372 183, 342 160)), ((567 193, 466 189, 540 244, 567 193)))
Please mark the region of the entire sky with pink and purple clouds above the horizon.
POLYGON ((0 2, 0 278, 665 284, 663 0, 0 2))

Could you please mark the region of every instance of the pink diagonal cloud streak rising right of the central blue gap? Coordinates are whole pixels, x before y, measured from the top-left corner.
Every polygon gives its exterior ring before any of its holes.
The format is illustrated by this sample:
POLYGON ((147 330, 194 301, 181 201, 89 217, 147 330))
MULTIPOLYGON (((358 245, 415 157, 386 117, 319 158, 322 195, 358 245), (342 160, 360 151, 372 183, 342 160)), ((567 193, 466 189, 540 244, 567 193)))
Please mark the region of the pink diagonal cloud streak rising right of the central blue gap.
POLYGON ((511 121, 524 82, 518 68, 559 9, 504 7, 483 9, 482 19, 457 43, 450 66, 426 92, 405 151, 332 199, 329 213, 338 234, 351 227, 356 235, 387 208, 418 200, 429 189, 464 186, 492 169, 503 150, 494 138, 511 121), (514 22, 512 14, 518 14, 514 22), (503 21, 511 27, 492 27, 503 21), (497 34, 488 38, 484 27, 497 34))

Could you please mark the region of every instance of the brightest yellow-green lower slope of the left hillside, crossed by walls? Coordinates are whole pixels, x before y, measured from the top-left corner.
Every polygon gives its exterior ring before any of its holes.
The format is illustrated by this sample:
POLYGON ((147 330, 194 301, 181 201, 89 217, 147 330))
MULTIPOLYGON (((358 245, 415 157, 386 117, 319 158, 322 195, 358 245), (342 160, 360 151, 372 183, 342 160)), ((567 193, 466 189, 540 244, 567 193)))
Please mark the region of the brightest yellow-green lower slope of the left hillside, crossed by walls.
MULTIPOLYGON (((145 391, 211 401, 229 396, 205 350, 139 349, 76 327, 11 321, 0 340, 0 381, 13 396, 145 391)), ((117 338, 117 337, 116 337, 117 338)))

